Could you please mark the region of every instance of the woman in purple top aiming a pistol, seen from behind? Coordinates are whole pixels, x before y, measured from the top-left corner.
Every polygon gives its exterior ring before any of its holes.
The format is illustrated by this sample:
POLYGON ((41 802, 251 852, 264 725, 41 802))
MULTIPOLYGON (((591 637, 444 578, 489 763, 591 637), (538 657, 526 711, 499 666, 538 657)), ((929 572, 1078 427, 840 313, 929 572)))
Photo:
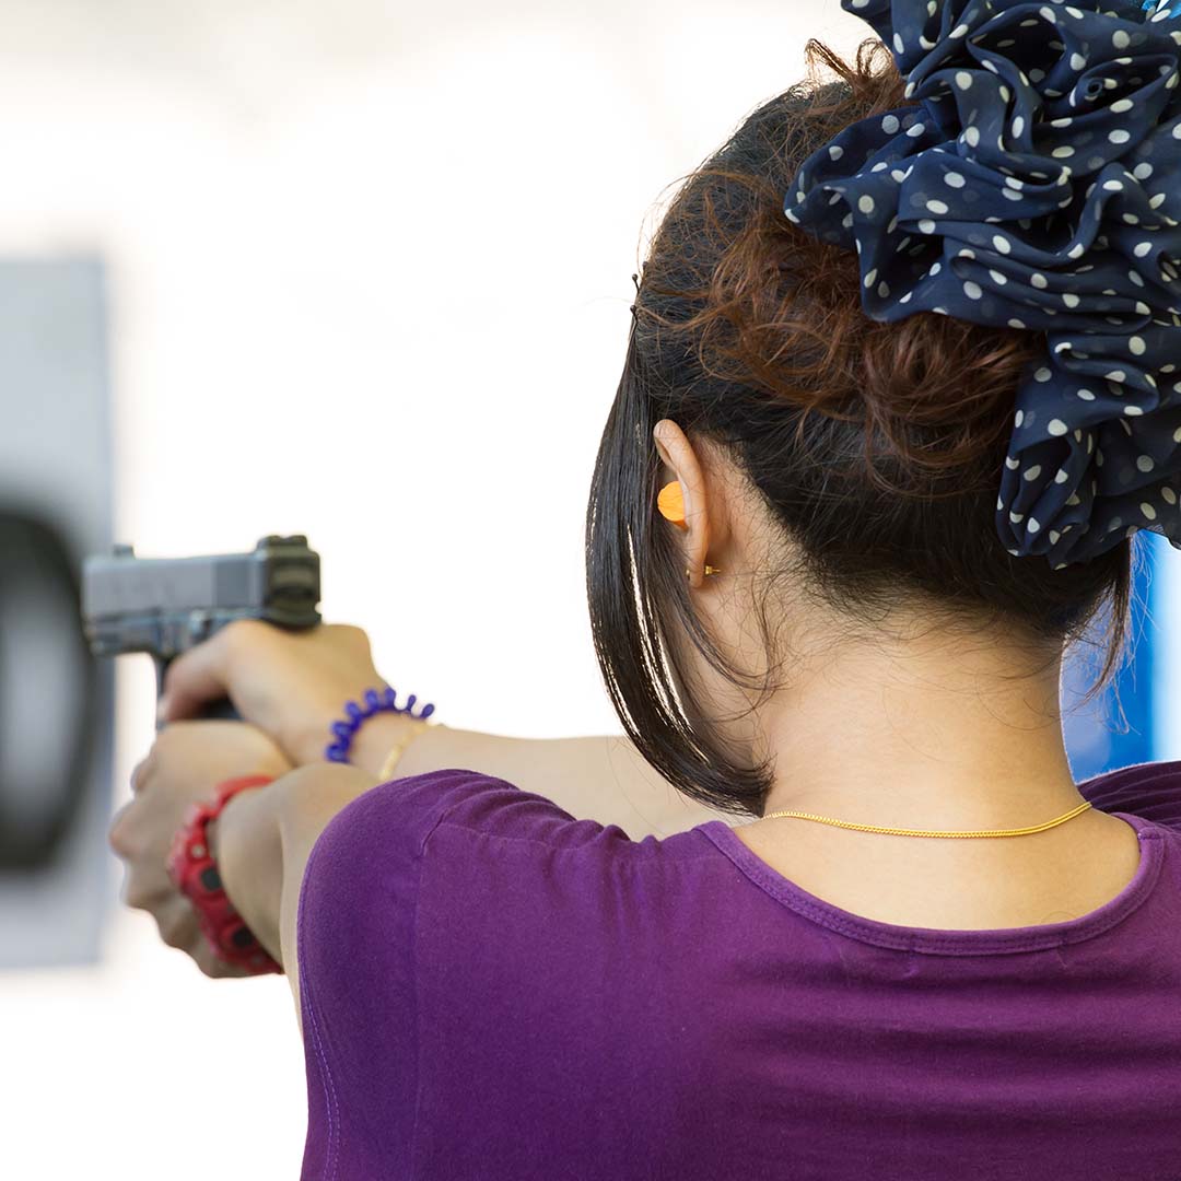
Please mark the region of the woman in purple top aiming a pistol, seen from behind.
POLYGON ((1173 244, 1181 37, 1111 6, 846 0, 895 60, 813 46, 680 189, 587 516, 628 742, 385 712, 333 765, 364 633, 172 666, 112 844, 241 973, 162 864, 273 778, 208 837, 296 1000, 305 1177, 1181 1175, 1181 763, 1076 784, 1058 704, 1135 531, 1181 544, 1175 272, 1121 236, 1173 244), (185 720, 223 693, 250 724, 185 720))

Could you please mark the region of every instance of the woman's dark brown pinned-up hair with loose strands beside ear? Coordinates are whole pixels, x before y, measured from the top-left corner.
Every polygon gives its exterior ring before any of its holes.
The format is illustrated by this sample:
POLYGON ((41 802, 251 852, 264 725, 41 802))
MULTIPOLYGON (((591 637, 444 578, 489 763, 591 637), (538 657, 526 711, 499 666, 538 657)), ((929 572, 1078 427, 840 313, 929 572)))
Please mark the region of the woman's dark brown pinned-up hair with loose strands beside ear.
MULTIPOLYGON (((1016 390, 1044 355, 1044 335, 933 313, 870 320, 856 255, 784 216, 813 151, 859 118, 908 105, 880 41, 853 64, 811 41, 808 60, 805 81, 683 178, 653 236, 586 521, 595 652, 627 736, 685 795, 756 816, 769 763, 735 759, 706 703, 692 699, 668 629, 735 685, 769 692, 777 661, 761 678, 733 667, 693 609, 679 537, 657 510, 661 418, 744 474, 795 542, 790 574, 850 632, 872 637, 894 608, 918 602, 937 624, 1000 620, 1057 660, 1061 645, 1090 642, 1087 629, 1110 607, 1087 704, 1118 671, 1133 585, 1127 539, 1053 570, 1012 556, 997 535, 1016 390)), ((765 596, 759 619, 770 654, 765 596)))

